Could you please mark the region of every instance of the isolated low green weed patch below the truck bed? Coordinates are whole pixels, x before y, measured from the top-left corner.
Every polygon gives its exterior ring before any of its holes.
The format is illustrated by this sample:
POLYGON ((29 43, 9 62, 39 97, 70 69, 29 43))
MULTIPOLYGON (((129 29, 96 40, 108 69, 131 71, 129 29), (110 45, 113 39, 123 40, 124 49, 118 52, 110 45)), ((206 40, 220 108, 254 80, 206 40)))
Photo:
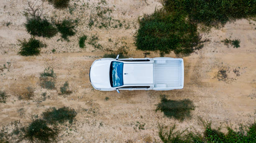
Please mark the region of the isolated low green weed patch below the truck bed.
POLYGON ((191 110, 195 109, 193 102, 189 99, 184 100, 168 100, 163 95, 161 103, 156 104, 156 111, 164 112, 169 118, 175 118, 184 121, 185 118, 191 118, 191 110))

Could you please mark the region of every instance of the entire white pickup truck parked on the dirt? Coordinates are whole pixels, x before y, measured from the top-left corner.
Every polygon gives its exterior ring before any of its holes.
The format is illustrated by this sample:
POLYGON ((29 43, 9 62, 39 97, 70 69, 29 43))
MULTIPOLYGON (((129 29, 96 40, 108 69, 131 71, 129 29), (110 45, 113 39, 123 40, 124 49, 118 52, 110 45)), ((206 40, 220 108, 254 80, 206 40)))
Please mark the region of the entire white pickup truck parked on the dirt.
POLYGON ((180 58, 103 58, 90 68, 90 82, 101 91, 182 89, 184 64, 180 58))

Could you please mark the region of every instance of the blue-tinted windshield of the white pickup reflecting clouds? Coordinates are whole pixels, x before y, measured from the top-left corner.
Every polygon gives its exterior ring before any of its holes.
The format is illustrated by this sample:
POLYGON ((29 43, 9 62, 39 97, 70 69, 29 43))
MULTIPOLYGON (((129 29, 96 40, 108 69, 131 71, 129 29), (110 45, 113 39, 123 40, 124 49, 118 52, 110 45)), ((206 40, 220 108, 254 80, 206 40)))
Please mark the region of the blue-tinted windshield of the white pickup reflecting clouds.
POLYGON ((123 85, 123 63, 122 62, 111 62, 110 84, 112 87, 123 85))

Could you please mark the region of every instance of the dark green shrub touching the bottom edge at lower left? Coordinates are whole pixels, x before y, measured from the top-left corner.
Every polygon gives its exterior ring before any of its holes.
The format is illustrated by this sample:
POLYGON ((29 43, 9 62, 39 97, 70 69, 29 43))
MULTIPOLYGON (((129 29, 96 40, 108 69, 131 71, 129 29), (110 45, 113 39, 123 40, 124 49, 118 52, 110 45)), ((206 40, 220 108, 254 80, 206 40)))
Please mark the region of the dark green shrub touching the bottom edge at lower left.
POLYGON ((25 138, 31 142, 51 143, 56 140, 58 130, 55 127, 49 127, 46 121, 36 119, 26 128, 25 138))

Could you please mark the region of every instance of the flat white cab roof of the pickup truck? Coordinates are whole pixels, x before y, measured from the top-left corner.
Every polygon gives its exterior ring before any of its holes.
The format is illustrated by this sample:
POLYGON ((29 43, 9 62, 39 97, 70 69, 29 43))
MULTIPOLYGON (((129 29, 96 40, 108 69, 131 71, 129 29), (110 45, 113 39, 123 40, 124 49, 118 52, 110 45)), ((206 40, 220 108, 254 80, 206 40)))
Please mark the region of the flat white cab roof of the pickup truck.
POLYGON ((153 63, 123 65, 123 84, 153 84, 153 63))

